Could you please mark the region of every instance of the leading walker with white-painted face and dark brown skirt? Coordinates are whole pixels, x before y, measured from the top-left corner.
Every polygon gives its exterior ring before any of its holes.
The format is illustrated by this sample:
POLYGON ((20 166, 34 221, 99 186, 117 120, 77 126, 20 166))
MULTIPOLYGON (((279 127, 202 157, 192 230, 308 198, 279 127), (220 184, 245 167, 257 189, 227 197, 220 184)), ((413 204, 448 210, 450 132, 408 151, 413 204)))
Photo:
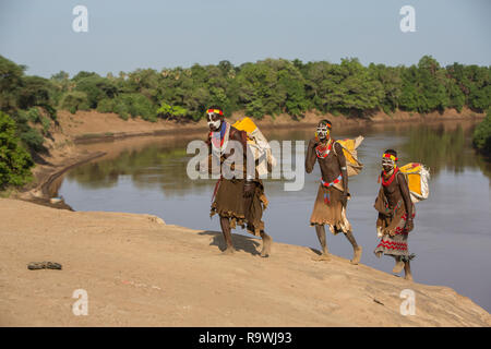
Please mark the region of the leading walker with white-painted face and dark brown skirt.
MULTIPOLYGON (((219 107, 213 106, 208 108, 206 118, 211 131, 207 140, 209 154, 216 154, 221 166, 224 161, 230 159, 229 157, 235 154, 235 149, 230 151, 230 145, 233 142, 229 141, 236 141, 241 145, 243 164, 246 164, 242 178, 233 176, 227 179, 221 173, 213 194, 214 201, 211 216, 218 214, 220 217, 221 232, 226 242, 224 253, 231 254, 235 252, 230 230, 236 228, 236 225, 239 225, 242 228, 247 226, 248 232, 262 238, 261 256, 267 257, 271 254, 273 239, 264 231, 264 222, 261 220, 263 210, 267 206, 267 200, 264 194, 263 183, 255 171, 254 163, 252 163, 252 170, 247 171, 247 133, 246 131, 237 130, 228 123, 224 119, 224 112, 219 107)), ((252 153, 249 154, 252 156, 252 153)))

